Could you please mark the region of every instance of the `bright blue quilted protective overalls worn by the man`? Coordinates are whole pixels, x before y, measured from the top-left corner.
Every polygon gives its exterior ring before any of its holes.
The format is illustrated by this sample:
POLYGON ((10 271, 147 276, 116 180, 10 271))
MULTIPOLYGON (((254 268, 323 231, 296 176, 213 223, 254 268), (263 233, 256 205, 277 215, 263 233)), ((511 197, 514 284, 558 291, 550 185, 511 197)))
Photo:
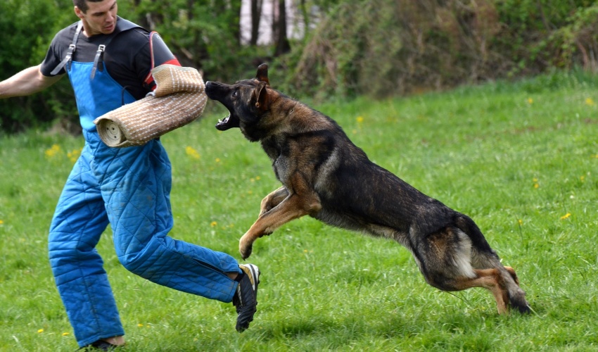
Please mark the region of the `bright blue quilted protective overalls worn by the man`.
POLYGON ((171 169, 158 140, 144 146, 109 148, 93 123, 134 101, 94 63, 67 68, 75 90, 85 145, 64 186, 49 233, 49 257, 56 286, 79 346, 125 334, 103 261, 95 249, 108 223, 120 263, 157 284, 230 302, 241 272, 226 253, 177 241, 167 234, 171 169))

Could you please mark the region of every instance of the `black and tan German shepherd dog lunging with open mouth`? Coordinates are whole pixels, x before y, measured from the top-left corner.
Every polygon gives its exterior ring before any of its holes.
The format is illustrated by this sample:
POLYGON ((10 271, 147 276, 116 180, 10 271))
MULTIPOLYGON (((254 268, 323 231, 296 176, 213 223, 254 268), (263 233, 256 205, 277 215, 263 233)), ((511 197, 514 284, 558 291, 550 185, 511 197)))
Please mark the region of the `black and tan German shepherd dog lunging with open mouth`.
POLYGON ((483 287, 494 295, 498 313, 509 306, 529 312, 515 271, 500 263, 471 218, 372 163, 328 116, 272 89, 266 64, 251 80, 206 82, 205 93, 230 113, 216 128, 239 127, 250 142, 260 142, 282 183, 262 200, 259 217, 241 237, 243 259, 258 237, 310 215, 394 239, 411 251, 433 287, 483 287))

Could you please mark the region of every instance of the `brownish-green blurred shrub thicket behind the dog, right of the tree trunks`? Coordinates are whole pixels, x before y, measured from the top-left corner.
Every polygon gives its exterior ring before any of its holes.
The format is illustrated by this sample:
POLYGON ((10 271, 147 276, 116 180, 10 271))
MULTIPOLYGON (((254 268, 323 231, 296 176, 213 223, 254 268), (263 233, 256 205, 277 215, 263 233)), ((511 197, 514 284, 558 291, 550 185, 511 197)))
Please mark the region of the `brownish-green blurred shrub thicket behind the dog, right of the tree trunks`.
POLYGON ((598 68, 589 0, 339 1, 279 61, 285 89, 385 96, 598 68))

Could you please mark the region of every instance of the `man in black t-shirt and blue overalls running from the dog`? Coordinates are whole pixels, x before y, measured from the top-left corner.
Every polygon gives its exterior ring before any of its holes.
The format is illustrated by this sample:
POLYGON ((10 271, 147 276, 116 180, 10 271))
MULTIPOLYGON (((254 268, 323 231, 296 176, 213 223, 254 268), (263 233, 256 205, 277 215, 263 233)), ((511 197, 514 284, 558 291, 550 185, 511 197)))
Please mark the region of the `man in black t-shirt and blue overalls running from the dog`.
POLYGON ((81 347, 125 344, 102 259, 94 248, 108 223, 117 256, 136 275, 158 284, 233 302, 242 332, 253 320, 260 272, 226 253, 167 236, 170 161, 160 141, 113 149, 93 120, 143 98, 153 65, 179 64, 155 33, 117 17, 116 0, 73 0, 79 23, 56 34, 42 64, 0 82, 0 98, 50 87, 68 75, 85 145, 64 186, 49 233, 49 257, 81 347))

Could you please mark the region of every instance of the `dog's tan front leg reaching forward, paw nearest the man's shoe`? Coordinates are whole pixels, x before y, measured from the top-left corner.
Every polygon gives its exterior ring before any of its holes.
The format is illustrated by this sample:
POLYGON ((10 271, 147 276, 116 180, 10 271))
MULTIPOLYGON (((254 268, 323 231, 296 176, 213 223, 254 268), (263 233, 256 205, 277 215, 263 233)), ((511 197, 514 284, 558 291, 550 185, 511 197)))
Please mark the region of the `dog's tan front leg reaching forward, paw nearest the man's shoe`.
MULTIPOLYGON (((279 192, 277 195, 281 196, 281 189, 277 189, 270 195, 276 192, 279 192)), ((286 192, 288 194, 288 191, 286 192)), ((274 199, 276 199, 276 196, 274 196, 274 199)), ((271 234, 286 222, 301 218, 303 215, 317 213, 320 209, 322 209, 322 203, 320 203, 319 197, 314 192, 310 192, 308 196, 300 196, 296 193, 289 194, 277 206, 262 213, 249 230, 243 234, 243 237, 238 241, 238 251, 241 253, 241 258, 249 258, 253 242, 259 237, 271 234)))

